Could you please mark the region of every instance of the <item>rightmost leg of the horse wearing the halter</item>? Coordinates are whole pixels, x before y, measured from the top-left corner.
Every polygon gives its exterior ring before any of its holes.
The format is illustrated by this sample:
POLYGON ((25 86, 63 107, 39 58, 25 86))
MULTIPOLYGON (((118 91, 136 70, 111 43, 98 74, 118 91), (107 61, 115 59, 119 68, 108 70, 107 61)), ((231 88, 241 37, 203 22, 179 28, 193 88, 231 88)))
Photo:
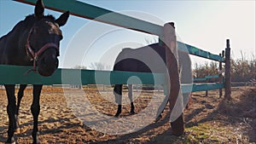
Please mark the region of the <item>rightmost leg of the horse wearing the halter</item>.
POLYGON ((38 140, 38 115, 40 112, 40 94, 42 90, 43 85, 33 85, 33 101, 32 101, 32 106, 31 106, 31 112, 33 116, 33 130, 32 130, 32 138, 33 138, 33 143, 39 143, 38 140))

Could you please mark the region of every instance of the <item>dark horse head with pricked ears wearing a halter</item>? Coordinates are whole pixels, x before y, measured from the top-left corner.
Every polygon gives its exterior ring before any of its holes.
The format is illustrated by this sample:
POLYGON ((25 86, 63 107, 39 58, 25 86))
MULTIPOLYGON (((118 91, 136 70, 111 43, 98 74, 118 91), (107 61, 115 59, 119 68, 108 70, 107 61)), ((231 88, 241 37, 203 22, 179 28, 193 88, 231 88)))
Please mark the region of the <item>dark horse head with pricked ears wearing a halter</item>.
POLYGON ((33 61, 33 71, 50 76, 59 65, 60 27, 66 24, 69 12, 61 14, 56 20, 51 15, 44 16, 44 3, 38 0, 34 13, 32 27, 26 37, 26 54, 33 61))

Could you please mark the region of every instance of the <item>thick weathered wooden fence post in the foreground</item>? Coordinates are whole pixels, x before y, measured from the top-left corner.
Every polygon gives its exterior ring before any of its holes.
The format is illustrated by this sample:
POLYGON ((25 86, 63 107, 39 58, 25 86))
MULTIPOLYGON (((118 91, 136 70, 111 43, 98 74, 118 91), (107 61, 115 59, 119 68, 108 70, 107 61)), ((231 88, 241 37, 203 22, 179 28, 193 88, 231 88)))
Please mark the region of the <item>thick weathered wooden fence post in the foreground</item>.
POLYGON ((183 96, 180 92, 178 71, 177 37, 174 23, 166 23, 163 28, 164 46, 166 48, 167 94, 169 94, 169 108, 171 111, 171 135, 183 135, 183 96))

